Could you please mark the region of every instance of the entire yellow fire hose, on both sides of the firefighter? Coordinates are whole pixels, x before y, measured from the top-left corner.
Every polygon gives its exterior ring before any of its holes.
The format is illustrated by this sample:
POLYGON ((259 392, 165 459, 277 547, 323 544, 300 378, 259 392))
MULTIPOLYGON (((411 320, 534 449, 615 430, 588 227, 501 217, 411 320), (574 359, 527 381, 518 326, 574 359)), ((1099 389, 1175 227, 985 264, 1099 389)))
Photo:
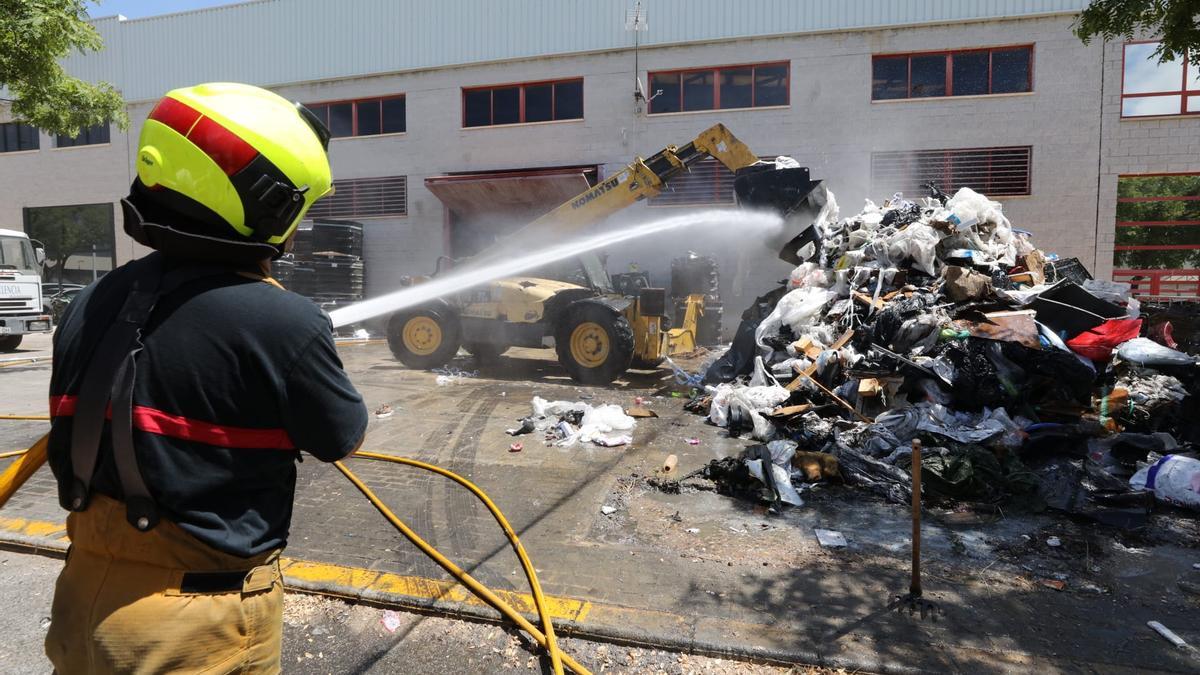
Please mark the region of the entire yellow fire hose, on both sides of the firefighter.
MULTIPOLYGON (((4 416, 0 419, 49 419, 46 416, 4 416)), ((13 450, 8 453, 0 454, 0 459, 4 458, 17 458, 12 465, 8 466, 0 473, 0 507, 2 507, 13 494, 32 476, 44 462, 47 458, 47 441, 49 435, 38 438, 28 450, 13 450)), ((497 611, 504 615, 506 619, 516 623, 522 631, 529 634, 546 652, 550 655, 551 665, 556 675, 562 675, 563 665, 565 664, 571 671, 578 675, 590 675, 587 668, 581 665, 577 661, 571 658, 569 655, 563 653, 558 647, 558 641, 554 638, 554 627, 550 619, 550 613, 546 609, 546 598, 541 592, 541 584, 538 581, 538 574, 534 571, 533 563, 529 561, 529 556, 526 554, 524 546, 521 545, 521 539, 517 538, 516 532, 509 525, 506 518, 500 512, 500 509, 492 502, 484 490, 476 486, 470 480, 467 480, 462 476, 448 471, 439 466, 431 464, 425 464, 422 461, 401 458, 395 455, 388 455, 382 453, 368 453, 368 452, 356 452, 353 458, 361 458, 376 461, 388 461, 394 464, 403 464, 413 466, 416 468, 422 468, 425 471, 431 471, 439 476, 444 476, 455 483, 462 485, 467 490, 470 490, 475 497, 479 498, 491 512, 492 516, 499 524, 500 528, 504 531, 504 536, 508 537, 509 543, 512 545, 514 552, 516 552, 517 558, 521 561, 521 567, 524 569, 526 579, 529 581, 529 589, 533 595, 534 607, 538 610, 538 616, 540 619, 542 628, 539 631, 536 626, 529 622, 524 616, 522 616, 516 609, 510 604, 500 599, 491 589, 479 583, 468 574, 464 569, 455 565, 448 557, 442 555, 432 544, 422 539, 416 532, 414 532, 403 520, 400 519, 388 504, 383 501, 364 483, 358 476, 350 471, 344 461, 334 462, 334 466, 342 472, 346 478, 354 484, 359 491, 371 502, 376 509, 388 519, 391 525, 400 531, 409 542, 413 543, 418 549, 427 555, 433 562, 438 563, 443 569, 450 573, 460 584, 466 586, 470 592, 475 593, 480 599, 492 605, 497 611)))

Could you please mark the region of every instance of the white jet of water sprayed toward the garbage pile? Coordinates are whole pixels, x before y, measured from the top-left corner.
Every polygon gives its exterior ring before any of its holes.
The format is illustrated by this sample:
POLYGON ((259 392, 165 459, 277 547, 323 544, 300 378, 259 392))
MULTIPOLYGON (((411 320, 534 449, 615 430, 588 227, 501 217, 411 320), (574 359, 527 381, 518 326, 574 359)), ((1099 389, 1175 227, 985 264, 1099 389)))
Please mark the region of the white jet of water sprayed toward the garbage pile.
POLYGON ((383 316, 407 307, 427 303, 434 298, 450 295, 468 288, 487 283, 496 279, 512 276, 522 271, 562 261, 580 253, 629 241, 640 237, 670 232, 682 228, 737 228, 751 237, 769 237, 782 227, 782 219, 776 214, 760 211, 708 210, 688 213, 665 219, 653 220, 631 227, 604 232, 586 239, 556 244, 532 253, 515 256, 498 262, 467 265, 427 282, 401 288, 386 295, 364 300, 347 307, 334 310, 329 317, 334 327, 349 325, 377 316, 383 316))

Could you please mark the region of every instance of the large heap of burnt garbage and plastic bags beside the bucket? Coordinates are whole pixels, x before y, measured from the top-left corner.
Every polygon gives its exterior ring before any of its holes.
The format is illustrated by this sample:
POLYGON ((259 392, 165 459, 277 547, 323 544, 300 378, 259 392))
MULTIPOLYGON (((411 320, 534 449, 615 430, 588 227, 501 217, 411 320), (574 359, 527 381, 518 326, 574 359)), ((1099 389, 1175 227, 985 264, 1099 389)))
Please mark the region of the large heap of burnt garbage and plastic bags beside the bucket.
POLYGON ((1000 203, 929 187, 845 219, 828 195, 808 262, 746 310, 688 406, 760 442, 709 470, 776 504, 830 473, 904 502, 919 440, 926 498, 1122 526, 1156 497, 1200 509, 1200 368, 1170 323, 1034 247, 1000 203))

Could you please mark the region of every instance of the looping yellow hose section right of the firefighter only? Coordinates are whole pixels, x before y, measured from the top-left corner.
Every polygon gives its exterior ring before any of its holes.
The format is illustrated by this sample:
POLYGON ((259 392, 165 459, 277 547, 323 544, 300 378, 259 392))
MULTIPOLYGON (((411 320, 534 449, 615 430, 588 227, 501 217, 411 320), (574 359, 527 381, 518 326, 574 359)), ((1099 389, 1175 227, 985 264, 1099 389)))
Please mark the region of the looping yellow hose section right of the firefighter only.
POLYGON ((350 480, 350 483, 353 483, 354 486, 358 488, 367 497, 367 500, 371 501, 371 503, 376 507, 376 509, 378 509, 379 513, 382 513, 383 516, 386 518, 388 521, 396 527, 396 530, 398 530, 402 534, 404 534, 404 537, 407 537, 408 540, 410 540, 416 548, 419 548, 421 552, 430 556, 430 558, 432 558, 434 562, 442 566, 443 569, 449 572, 451 577, 457 579, 462 585, 467 586, 473 593, 475 593, 476 596, 486 601, 488 604, 494 607, 500 614, 506 616, 510 621, 516 623, 526 633, 533 637, 533 639, 536 640, 539 645, 545 647, 547 653, 550 653, 551 664, 554 668, 556 674, 563 673, 563 664, 565 663, 568 668, 570 668, 572 671, 580 675, 590 675, 589 671, 586 668, 583 668, 583 665, 581 665, 570 656, 564 655, 559 651, 558 643, 554 639, 554 627, 551 623, 550 613, 546 610, 545 597, 542 596, 541 592, 541 585, 538 583, 538 574, 534 572, 533 565, 529 562, 529 556, 526 554, 524 546, 521 545, 521 539, 517 538, 516 532, 512 531, 512 527, 504 518, 504 514, 500 513, 500 509, 496 507, 492 500, 488 498, 482 490, 480 490, 474 483, 467 480, 466 478, 458 476, 457 473, 454 473, 451 471, 448 471, 438 466, 433 466, 431 464, 425 464, 422 461, 408 458, 394 456, 394 455, 385 455, 380 453, 366 453, 366 452, 354 453, 353 456, 379 460, 379 461, 390 461, 395 464, 404 464, 408 466, 424 468, 426 471, 432 471, 433 473, 438 473, 440 476, 450 478, 451 480, 467 488, 468 490, 472 491, 472 494, 479 497, 479 500, 484 502, 484 504, 491 512, 492 516, 496 518, 496 521, 499 522, 500 527, 504 530, 505 536, 509 538, 509 542, 512 544, 512 548, 516 551, 517 557, 521 560, 521 565, 524 568, 526 577, 529 579, 529 586, 530 590, 533 591, 534 605, 538 608, 538 614, 541 617, 541 623, 542 627, 545 628, 545 633, 539 631, 533 623, 526 620, 524 616, 521 616, 521 614, 518 614, 515 609, 512 609, 512 607, 510 607, 508 603, 497 597, 496 593, 493 593, 487 586, 484 586, 482 584, 476 581, 475 578, 473 578, 466 571, 463 571, 454 562, 451 562, 449 558, 446 558, 444 555, 442 555, 440 551, 430 545, 425 539, 422 539, 419 534, 416 534, 416 532, 413 532, 413 530, 410 530, 395 513, 392 513, 391 509, 389 509, 388 506, 384 504, 379 500, 379 497, 377 497, 376 494, 371 491, 371 489, 367 488, 366 484, 364 484, 358 476, 354 474, 354 472, 347 468, 344 464, 342 462, 334 464, 334 466, 336 466, 337 470, 341 471, 350 480))

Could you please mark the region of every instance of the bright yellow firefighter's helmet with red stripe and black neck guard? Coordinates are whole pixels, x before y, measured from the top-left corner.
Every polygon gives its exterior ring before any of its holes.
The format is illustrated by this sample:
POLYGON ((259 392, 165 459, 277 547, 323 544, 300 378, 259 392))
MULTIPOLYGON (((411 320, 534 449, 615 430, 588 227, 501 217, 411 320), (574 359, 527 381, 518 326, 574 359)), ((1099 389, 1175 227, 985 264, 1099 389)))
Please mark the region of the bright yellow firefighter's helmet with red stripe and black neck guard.
POLYGON ((328 145, 316 115, 265 89, 209 83, 168 91, 142 127, 125 229, 190 257, 276 257, 331 191, 328 145))

